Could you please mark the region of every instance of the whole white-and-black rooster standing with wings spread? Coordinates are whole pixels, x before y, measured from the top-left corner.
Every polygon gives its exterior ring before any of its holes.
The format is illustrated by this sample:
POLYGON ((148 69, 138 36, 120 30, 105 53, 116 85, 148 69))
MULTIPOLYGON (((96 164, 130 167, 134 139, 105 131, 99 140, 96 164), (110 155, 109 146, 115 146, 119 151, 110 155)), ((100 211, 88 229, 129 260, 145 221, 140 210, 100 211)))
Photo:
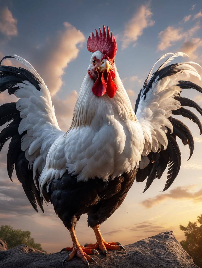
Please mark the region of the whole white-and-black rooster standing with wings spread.
MULTIPOLYGON (((0 107, 0 125, 9 122, 0 134, 0 150, 11 138, 7 154, 8 176, 16 175, 30 203, 43 211, 43 201, 50 202, 69 230, 72 247, 66 261, 77 256, 89 266, 90 254, 100 249, 124 250, 119 243, 107 243, 99 225, 122 204, 134 180, 146 180, 144 191, 168 166, 166 190, 173 183, 181 165, 176 137, 193 153, 190 130, 172 115, 194 121, 202 133, 197 116, 184 106, 202 109, 182 97, 184 89, 202 92, 192 81, 179 79, 196 76, 194 62, 169 63, 183 53, 168 53, 166 61, 150 71, 139 92, 135 111, 115 65, 117 50, 112 32, 99 29, 87 40, 92 52, 87 74, 75 104, 72 124, 67 132, 58 126, 50 93, 43 79, 23 58, 9 55, 25 68, 0 66, 0 91, 8 90, 19 100, 0 107), (95 233, 96 243, 81 246, 75 235, 76 222, 84 213, 95 233)), ((0 64, 2 64, 2 61, 0 64)), ((157 61, 158 62, 158 61, 157 61)), ((156 62, 156 63, 157 63, 156 62)), ((126 251, 125 251, 126 252, 126 251)))

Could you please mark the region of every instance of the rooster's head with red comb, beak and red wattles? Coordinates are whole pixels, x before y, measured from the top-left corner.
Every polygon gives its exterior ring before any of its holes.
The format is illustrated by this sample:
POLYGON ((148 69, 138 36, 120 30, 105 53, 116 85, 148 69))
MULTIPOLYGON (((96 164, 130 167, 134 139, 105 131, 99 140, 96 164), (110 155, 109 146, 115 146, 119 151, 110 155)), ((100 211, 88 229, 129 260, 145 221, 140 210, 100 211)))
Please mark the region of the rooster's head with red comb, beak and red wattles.
MULTIPOLYGON (((100 29, 100 28, 99 28, 100 29)), ((96 36, 92 33, 92 37, 89 36, 87 40, 87 49, 93 52, 90 65, 88 68, 88 74, 95 82, 92 87, 93 94, 96 96, 103 96, 105 93, 110 98, 113 98, 116 94, 116 84, 113 82, 116 76, 115 68, 115 55, 116 55, 116 40, 109 33, 107 27, 107 34, 103 25, 103 32, 96 36)))

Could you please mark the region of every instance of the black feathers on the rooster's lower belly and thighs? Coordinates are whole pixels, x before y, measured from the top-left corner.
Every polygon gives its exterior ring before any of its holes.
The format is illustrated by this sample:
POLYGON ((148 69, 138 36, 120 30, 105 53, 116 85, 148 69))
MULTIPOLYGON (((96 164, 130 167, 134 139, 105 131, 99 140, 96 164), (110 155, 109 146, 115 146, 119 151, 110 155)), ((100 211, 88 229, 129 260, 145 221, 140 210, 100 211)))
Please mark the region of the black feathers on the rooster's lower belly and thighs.
POLYGON ((84 213, 88 214, 88 226, 94 227, 106 221, 122 204, 136 172, 137 169, 134 169, 130 174, 109 181, 94 178, 85 182, 77 182, 74 176, 65 173, 61 179, 50 184, 51 203, 68 229, 75 227, 84 213))

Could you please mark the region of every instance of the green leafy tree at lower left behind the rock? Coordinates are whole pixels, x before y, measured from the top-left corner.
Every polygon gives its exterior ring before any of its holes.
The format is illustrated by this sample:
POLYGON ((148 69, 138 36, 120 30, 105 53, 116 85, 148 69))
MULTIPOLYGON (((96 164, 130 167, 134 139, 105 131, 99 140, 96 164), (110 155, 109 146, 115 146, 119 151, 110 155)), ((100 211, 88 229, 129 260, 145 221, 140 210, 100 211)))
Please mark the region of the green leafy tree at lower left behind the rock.
POLYGON ((46 252, 42 249, 41 244, 35 243, 34 238, 31 237, 31 233, 29 230, 15 230, 9 225, 1 225, 0 238, 6 241, 8 249, 14 248, 17 245, 25 244, 30 248, 35 248, 37 250, 46 252))

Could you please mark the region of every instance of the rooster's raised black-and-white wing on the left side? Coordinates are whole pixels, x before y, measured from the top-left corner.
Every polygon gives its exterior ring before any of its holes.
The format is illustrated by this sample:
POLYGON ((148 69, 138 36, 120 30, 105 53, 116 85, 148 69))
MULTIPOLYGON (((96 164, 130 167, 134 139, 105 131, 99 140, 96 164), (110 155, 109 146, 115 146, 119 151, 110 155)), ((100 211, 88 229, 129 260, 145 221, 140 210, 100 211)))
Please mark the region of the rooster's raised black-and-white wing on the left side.
POLYGON ((0 92, 8 89, 9 94, 19 98, 17 103, 0 106, 0 125, 10 122, 0 134, 0 151, 11 138, 7 154, 8 175, 11 179, 15 166, 16 175, 32 206, 37 211, 37 201, 43 210, 38 177, 45 166, 50 146, 64 133, 58 126, 50 92, 36 70, 19 56, 5 58, 21 61, 28 70, 0 66, 0 92))

